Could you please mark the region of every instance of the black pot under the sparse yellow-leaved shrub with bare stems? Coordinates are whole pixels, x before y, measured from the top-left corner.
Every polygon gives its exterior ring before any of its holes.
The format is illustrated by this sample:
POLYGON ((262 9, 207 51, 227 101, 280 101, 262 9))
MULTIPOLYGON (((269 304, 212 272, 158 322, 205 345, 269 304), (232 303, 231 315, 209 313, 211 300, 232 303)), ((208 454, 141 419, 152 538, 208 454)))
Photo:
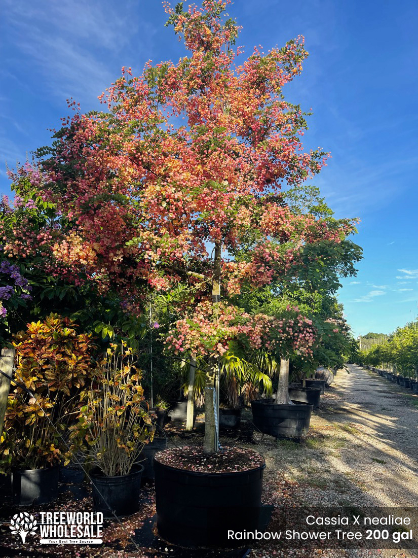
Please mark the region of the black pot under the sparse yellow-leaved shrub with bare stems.
POLYGON ((137 512, 143 470, 143 465, 136 465, 132 473, 119 477, 105 477, 99 469, 92 471, 94 511, 103 512, 104 517, 137 512))

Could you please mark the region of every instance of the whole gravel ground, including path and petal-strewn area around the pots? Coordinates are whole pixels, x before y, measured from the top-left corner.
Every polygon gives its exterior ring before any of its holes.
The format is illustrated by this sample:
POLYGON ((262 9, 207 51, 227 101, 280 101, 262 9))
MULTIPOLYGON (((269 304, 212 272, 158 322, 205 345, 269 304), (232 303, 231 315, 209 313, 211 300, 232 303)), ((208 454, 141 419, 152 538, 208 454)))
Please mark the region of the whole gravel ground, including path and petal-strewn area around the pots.
MULTIPOLYGON (((320 407, 312 414, 309 435, 301 442, 275 440, 254 430, 250 410, 242 412, 241 428, 224 432, 221 444, 252 448, 266 460, 263 503, 270 505, 272 516, 266 531, 283 528, 281 521, 300 514, 308 506, 350 508, 357 510, 366 506, 396 507, 399 515, 406 507, 418 506, 418 396, 410 389, 402 388, 368 372, 356 365, 347 365, 348 372, 338 371, 335 382, 321 396, 320 407)), ((168 446, 202 444, 204 425, 197 421, 195 431, 184 431, 183 425, 169 424, 166 428, 168 446)), ((70 488, 70 487, 69 487, 70 488)), ((65 487, 63 488, 65 489, 65 487)), ((65 489, 66 490, 66 489, 65 489)), ((59 501, 43 509, 91 508, 91 489, 88 483, 72 492, 62 492, 59 501), (81 497, 74 501, 74 494, 81 490, 81 497), (69 498, 70 497, 70 498, 69 498)), ((143 493, 144 504, 134 516, 121 522, 129 533, 137 538, 146 527, 154 527, 154 489, 149 485, 143 493)), ((55 549, 40 547, 31 541, 23 546, 12 538, 6 522, 11 517, 7 499, 0 505, 4 521, 0 522, 0 556, 105 556, 106 558, 156 556, 186 556, 178 547, 166 546, 160 540, 157 546, 142 546, 133 550, 127 533, 120 525, 106 522, 105 545, 100 549, 59 546, 55 549), (3 508, 2 508, 3 506, 3 508), (4 507, 6 506, 6 507, 4 507), (46 552, 45 552, 46 551, 46 552), (51 554, 49 554, 49 552, 51 554), (45 553, 44 553, 45 552, 45 553)), ((39 508, 33 509, 36 513, 39 508)), ((26 508, 25 511, 29 511, 26 508)), ((405 515, 405 513, 404 513, 405 515)), ((415 537, 418 533, 414 533, 415 537)), ((139 542, 139 538, 137 538, 139 542)), ((244 545, 243 545, 244 546, 244 545)), ((401 546, 401 545, 399 545, 401 546)), ((191 552, 193 558, 200 552, 191 552)), ((205 554, 205 558, 206 558, 205 554)), ((228 552, 213 552, 216 558, 229 556, 228 552)), ((327 549, 300 543, 292 549, 281 549, 277 543, 256 543, 247 554, 249 558, 271 557, 322 557, 363 558, 418 556, 415 550, 378 550, 374 548, 346 548, 344 543, 336 549, 327 549)))

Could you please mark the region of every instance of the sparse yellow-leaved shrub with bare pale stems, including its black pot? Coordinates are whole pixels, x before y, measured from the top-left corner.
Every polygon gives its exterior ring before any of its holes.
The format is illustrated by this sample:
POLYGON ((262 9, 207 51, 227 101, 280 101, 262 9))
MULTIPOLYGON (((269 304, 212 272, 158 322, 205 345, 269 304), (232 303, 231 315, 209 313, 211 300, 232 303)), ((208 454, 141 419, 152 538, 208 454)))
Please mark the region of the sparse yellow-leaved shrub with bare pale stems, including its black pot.
POLYGON ((106 517, 139 509, 140 452, 154 435, 151 417, 141 405, 141 379, 132 350, 124 342, 111 345, 86 393, 79 422, 71 427, 72 453, 81 451, 91 465, 94 509, 106 517))

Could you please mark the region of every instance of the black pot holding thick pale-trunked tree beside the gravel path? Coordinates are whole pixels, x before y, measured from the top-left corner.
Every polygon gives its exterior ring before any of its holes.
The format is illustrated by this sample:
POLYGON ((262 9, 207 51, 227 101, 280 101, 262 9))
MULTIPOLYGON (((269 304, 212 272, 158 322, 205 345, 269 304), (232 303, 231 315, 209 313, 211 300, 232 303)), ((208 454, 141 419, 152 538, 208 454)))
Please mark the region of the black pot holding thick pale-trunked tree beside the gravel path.
POLYGON ((308 434, 312 405, 282 405, 273 399, 251 401, 254 424, 264 434, 275 438, 300 438, 308 434))

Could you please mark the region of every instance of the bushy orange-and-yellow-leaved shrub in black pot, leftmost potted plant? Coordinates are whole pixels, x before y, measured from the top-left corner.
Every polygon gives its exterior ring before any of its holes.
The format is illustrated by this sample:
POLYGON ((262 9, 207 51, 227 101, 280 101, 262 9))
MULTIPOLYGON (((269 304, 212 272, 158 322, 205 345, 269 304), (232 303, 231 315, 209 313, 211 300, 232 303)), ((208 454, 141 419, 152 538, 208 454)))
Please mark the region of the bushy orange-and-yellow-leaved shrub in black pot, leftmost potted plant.
POLYGON ((12 475, 13 503, 31 506, 57 497, 61 435, 75 419, 91 382, 96 347, 68 318, 51 314, 14 336, 16 372, 0 444, 2 472, 12 475), (26 388, 26 389, 25 389, 26 388))

